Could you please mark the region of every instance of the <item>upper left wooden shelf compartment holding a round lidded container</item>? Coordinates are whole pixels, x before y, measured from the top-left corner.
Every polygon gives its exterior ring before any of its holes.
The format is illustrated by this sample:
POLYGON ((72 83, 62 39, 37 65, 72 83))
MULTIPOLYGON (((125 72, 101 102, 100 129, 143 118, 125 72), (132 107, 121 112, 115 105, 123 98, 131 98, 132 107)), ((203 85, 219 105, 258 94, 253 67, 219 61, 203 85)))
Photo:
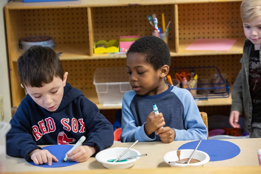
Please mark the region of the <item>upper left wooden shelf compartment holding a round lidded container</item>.
MULTIPOLYGON (((8 10, 8 49, 21 53, 19 41, 33 35, 54 39, 57 52, 68 59, 88 59, 90 56, 87 8, 50 8, 8 10), (17 17, 19 16, 19 17, 17 17)), ((12 61, 17 57, 11 55, 12 61)))

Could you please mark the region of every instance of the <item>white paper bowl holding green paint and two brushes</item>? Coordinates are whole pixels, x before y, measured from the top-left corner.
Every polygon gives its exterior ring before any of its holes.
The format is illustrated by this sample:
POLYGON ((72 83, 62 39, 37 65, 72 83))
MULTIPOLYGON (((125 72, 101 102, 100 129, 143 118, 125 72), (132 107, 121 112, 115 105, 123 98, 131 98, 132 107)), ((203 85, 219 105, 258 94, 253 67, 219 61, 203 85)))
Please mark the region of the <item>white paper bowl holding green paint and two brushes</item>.
MULTIPOLYGON (((127 148, 125 147, 114 147, 114 148, 108 148, 103 151, 100 151, 99 153, 96 154, 95 158, 98 162, 101 162, 102 165, 106 168, 109 169, 125 169, 133 166, 135 161, 137 161, 140 157, 136 157, 133 159, 130 159, 128 161, 124 162, 108 162, 107 160, 110 159, 116 159, 121 155, 127 148)), ((128 150, 122 157, 122 158, 127 158, 127 157, 132 157, 136 155, 141 155, 139 151, 135 149, 130 149, 128 150)))

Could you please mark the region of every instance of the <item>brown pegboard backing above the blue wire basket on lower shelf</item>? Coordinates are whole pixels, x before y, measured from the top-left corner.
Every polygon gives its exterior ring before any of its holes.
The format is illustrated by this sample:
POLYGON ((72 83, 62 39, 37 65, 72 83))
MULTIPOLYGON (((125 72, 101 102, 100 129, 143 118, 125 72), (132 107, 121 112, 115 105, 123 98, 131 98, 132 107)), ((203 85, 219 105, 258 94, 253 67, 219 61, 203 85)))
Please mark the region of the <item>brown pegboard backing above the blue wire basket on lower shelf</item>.
MULTIPOLYGON (((226 79, 230 85, 233 85, 238 72, 241 69, 239 62, 242 55, 211 55, 211 56, 188 56, 188 57, 173 57, 171 59, 171 68, 186 68, 186 67, 211 67, 216 66, 220 73, 226 73, 226 79)), ((189 73, 189 72, 187 72, 189 73)), ((195 69, 195 73, 211 77, 216 73, 216 69, 195 69)), ((175 77, 175 72, 169 73, 172 78, 175 77)))

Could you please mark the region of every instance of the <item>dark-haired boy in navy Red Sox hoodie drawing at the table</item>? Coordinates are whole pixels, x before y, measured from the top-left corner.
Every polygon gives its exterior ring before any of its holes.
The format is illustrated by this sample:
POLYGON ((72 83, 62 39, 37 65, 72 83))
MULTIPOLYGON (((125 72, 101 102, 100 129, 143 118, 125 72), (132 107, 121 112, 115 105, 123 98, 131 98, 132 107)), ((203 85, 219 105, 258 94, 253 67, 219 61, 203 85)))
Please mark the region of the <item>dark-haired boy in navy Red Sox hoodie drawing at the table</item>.
POLYGON ((68 160, 84 162, 113 144, 113 126, 84 94, 66 83, 61 61, 49 47, 33 46, 17 60, 21 86, 27 91, 10 120, 7 154, 35 164, 57 162, 38 145, 75 144, 68 160))

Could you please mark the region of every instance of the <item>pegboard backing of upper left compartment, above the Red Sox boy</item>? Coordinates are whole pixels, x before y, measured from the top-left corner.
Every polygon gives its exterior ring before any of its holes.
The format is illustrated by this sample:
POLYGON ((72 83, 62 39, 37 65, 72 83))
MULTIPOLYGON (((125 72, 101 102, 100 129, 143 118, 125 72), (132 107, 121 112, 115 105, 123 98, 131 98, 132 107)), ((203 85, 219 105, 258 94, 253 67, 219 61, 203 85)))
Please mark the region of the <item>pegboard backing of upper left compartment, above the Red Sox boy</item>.
POLYGON ((56 44, 88 43, 87 8, 19 10, 23 37, 48 35, 56 44))

